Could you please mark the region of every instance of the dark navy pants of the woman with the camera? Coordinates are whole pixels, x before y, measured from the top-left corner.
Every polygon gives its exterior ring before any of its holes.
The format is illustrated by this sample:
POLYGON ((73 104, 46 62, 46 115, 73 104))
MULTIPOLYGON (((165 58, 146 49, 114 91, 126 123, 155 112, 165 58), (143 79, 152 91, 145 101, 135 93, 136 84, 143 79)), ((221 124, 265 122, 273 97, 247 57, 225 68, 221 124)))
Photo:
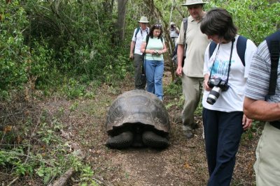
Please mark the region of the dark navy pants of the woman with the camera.
POLYGON ((209 169, 208 186, 229 186, 239 148, 242 111, 214 111, 203 108, 205 147, 209 169))

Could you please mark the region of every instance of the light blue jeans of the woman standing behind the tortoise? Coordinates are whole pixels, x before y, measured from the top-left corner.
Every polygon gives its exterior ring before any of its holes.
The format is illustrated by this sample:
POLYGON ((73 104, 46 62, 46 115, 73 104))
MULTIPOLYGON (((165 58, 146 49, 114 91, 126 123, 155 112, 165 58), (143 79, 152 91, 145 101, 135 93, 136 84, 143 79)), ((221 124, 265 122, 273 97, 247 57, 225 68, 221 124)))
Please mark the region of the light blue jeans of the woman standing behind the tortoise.
POLYGON ((145 60, 145 72, 147 78, 147 91, 154 93, 160 100, 163 99, 162 77, 164 70, 163 61, 145 60))

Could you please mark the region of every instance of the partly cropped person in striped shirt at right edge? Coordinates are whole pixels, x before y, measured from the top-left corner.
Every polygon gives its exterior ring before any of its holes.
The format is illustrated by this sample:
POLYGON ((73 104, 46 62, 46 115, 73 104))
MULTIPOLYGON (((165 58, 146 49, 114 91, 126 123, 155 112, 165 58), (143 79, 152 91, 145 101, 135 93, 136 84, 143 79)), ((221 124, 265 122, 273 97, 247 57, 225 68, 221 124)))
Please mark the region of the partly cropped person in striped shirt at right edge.
POLYGON ((280 30, 269 35, 253 56, 245 89, 244 113, 267 121, 255 150, 255 183, 280 185, 280 30))

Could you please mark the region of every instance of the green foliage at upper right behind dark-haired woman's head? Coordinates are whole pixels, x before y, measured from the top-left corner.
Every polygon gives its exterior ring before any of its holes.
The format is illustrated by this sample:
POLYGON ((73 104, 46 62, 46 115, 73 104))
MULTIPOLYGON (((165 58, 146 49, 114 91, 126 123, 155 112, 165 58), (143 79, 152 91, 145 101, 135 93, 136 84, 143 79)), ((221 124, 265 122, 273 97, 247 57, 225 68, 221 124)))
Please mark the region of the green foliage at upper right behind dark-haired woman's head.
POLYGON ((210 7, 227 9, 239 28, 239 34, 259 45, 269 33, 279 29, 280 3, 267 0, 211 1, 210 7))

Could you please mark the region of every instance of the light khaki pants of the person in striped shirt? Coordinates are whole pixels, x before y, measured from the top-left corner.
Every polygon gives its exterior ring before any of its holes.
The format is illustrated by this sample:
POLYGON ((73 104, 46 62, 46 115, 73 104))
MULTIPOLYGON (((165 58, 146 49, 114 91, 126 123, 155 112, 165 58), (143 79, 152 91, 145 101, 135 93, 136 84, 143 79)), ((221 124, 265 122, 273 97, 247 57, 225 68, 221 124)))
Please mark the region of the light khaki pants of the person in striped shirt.
POLYGON ((257 186, 280 185, 280 130, 265 124, 255 150, 254 164, 257 186))

